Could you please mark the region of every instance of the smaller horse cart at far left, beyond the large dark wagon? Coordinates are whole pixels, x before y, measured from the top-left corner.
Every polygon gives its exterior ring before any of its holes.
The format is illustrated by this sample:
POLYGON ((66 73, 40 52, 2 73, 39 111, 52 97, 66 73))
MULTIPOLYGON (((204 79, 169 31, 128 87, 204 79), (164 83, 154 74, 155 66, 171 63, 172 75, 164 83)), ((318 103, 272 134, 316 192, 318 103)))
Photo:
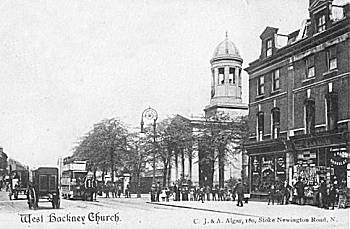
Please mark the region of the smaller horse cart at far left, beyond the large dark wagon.
POLYGON ((29 182, 28 170, 14 170, 9 178, 9 198, 10 200, 18 199, 18 195, 27 195, 29 182), (13 197, 13 198, 12 198, 13 197))

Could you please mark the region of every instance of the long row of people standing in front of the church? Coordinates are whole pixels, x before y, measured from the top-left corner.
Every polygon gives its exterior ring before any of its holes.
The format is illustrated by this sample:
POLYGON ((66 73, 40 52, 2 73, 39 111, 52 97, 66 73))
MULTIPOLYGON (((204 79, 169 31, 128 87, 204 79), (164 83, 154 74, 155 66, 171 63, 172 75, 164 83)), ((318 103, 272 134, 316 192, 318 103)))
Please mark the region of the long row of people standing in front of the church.
MULTIPOLYGON (((173 185, 171 189, 161 188, 159 183, 152 186, 151 201, 159 202, 160 200, 169 201, 172 197, 174 201, 234 201, 237 199, 237 206, 243 206, 244 193, 247 193, 247 186, 242 184, 241 179, 238 183, 229 189, 228 187, 219 188, 218 185, 210 187, 198 187, 187 185, 173 185), (237 198, 236 198, 237 197, 237 198)), ((248 198, 244 200, 248 203, 248 198)))

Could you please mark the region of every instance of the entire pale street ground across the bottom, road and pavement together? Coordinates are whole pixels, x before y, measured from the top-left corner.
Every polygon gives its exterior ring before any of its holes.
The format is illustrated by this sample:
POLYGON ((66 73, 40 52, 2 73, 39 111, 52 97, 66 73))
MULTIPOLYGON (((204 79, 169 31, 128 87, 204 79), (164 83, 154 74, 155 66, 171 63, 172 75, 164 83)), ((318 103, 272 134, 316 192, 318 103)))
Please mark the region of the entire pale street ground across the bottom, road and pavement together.
POLYGON ((60 209, 39 202, 29 210, 27 201, 9 200, 0 192, 0 228, 348 228, 349 211, 311 206, 267 206, 250 202, 147 203, 141 198, 104 198, 88 202, 61 200, 60 209), (165 204, 165 205, 164 205, 165 204), (172 206, 167 206, 170 204, 172 206), (177 205, 177 206, 175 206, 177 205))

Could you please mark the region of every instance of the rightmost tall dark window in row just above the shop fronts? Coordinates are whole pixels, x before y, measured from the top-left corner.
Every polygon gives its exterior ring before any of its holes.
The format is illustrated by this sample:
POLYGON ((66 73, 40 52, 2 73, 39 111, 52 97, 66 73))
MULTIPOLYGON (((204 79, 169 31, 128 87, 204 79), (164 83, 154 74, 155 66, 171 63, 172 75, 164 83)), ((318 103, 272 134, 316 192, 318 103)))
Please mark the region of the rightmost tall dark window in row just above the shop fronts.
POLYGON ((337 129, 338 121, 338 95, 336 92, 329 92, 326 95, 327 104, 327 129, 337 129))

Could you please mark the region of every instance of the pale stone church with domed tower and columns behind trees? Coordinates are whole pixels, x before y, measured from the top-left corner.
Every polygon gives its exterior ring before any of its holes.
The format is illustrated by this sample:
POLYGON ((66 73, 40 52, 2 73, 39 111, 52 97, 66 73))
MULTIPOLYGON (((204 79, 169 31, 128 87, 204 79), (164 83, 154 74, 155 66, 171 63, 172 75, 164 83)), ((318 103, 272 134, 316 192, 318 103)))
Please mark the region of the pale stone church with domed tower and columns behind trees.
MULTIPOLYGON (((191 123, 193 134, 205 122, 210 122, 215 116, 228 116, 231 120, 248 114, 248 105, 242 102, 242 63, 243 59, 239 54, 236 45, 228 39, 218 44, 214 50, 211 64, 211 97, 209 105, 204 108, 204 117, 184 117, 178 115, 191 123)), ((208 177, 206 174, 209 168, 201 165, 199 144, 196 143, 192 152, 193 158, 184 157, 178 166, 173 166, 170 171, 170 182, 176 182, 181 177, 191 180, 192 184, 199 186, 212 186, 219 184, 219 161, 214 161, 214 174, 208 177)), ((214 152, 217 153, 217 152, 214 152)), ((225 163, 223 175, 225 180, 230 177, 241 177, 242 155, 228 159, 225 163), (232 159, 232 160, 231 160, 232 159)))

